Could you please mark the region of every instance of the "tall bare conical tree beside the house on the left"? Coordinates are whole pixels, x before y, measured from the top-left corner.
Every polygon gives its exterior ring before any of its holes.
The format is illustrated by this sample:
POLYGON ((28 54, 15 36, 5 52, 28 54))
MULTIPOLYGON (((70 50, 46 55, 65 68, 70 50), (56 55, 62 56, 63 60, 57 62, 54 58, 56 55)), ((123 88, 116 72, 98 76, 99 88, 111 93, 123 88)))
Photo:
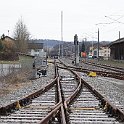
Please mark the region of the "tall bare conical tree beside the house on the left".
POLYGON ((26 53, 28 49, 28 40, 30 34, 22 19, 19 19, 15 25, 14 39, 16 40, 16 47, 18 52, 26 53))

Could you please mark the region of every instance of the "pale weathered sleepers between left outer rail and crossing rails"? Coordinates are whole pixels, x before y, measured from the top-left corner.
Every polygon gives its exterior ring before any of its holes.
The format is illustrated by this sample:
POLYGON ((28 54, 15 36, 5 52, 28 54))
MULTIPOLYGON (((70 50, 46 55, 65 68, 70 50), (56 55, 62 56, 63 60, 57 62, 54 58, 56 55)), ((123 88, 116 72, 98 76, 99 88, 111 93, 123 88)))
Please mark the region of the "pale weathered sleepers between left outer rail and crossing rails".
POLYGON ((38 123, 55 106, 55 86, 33 99, 31 104, 20 108, 9 116, 1 116, 1 124, 38 123))

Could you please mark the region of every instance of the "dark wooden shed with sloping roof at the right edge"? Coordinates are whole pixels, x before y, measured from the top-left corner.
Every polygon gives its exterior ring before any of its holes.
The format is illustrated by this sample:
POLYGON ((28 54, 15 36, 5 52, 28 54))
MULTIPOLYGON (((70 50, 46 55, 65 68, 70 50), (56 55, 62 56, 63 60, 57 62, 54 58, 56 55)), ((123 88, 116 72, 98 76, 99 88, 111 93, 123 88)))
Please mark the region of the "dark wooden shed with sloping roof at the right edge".
POLYGON ((124 38, 111 42, 109 47, 111 49, 111 59, 124 60, 124 38))

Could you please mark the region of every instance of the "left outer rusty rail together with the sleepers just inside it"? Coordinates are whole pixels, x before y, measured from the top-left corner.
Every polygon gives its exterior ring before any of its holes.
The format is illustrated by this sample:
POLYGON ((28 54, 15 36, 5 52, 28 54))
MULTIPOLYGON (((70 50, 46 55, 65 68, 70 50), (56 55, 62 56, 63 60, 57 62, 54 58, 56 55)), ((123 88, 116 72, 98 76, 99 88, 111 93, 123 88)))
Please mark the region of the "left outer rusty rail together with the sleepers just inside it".
POLYGON ((39 123, 57 104, 56 79, 41 90, 0 108, 0 124, 39 123))

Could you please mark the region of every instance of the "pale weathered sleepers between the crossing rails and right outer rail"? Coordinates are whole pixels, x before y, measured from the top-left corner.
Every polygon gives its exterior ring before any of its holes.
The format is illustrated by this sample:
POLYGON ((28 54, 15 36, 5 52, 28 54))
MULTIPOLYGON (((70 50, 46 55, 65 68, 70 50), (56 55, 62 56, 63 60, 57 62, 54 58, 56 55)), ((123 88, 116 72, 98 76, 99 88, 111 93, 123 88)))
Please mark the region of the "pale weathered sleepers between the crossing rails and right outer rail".
POLYGON ((87 87, 83 87, 78 98, 69 105, 69 123, 118 124, 115 118, 108 117, 100 104, 87 87))

